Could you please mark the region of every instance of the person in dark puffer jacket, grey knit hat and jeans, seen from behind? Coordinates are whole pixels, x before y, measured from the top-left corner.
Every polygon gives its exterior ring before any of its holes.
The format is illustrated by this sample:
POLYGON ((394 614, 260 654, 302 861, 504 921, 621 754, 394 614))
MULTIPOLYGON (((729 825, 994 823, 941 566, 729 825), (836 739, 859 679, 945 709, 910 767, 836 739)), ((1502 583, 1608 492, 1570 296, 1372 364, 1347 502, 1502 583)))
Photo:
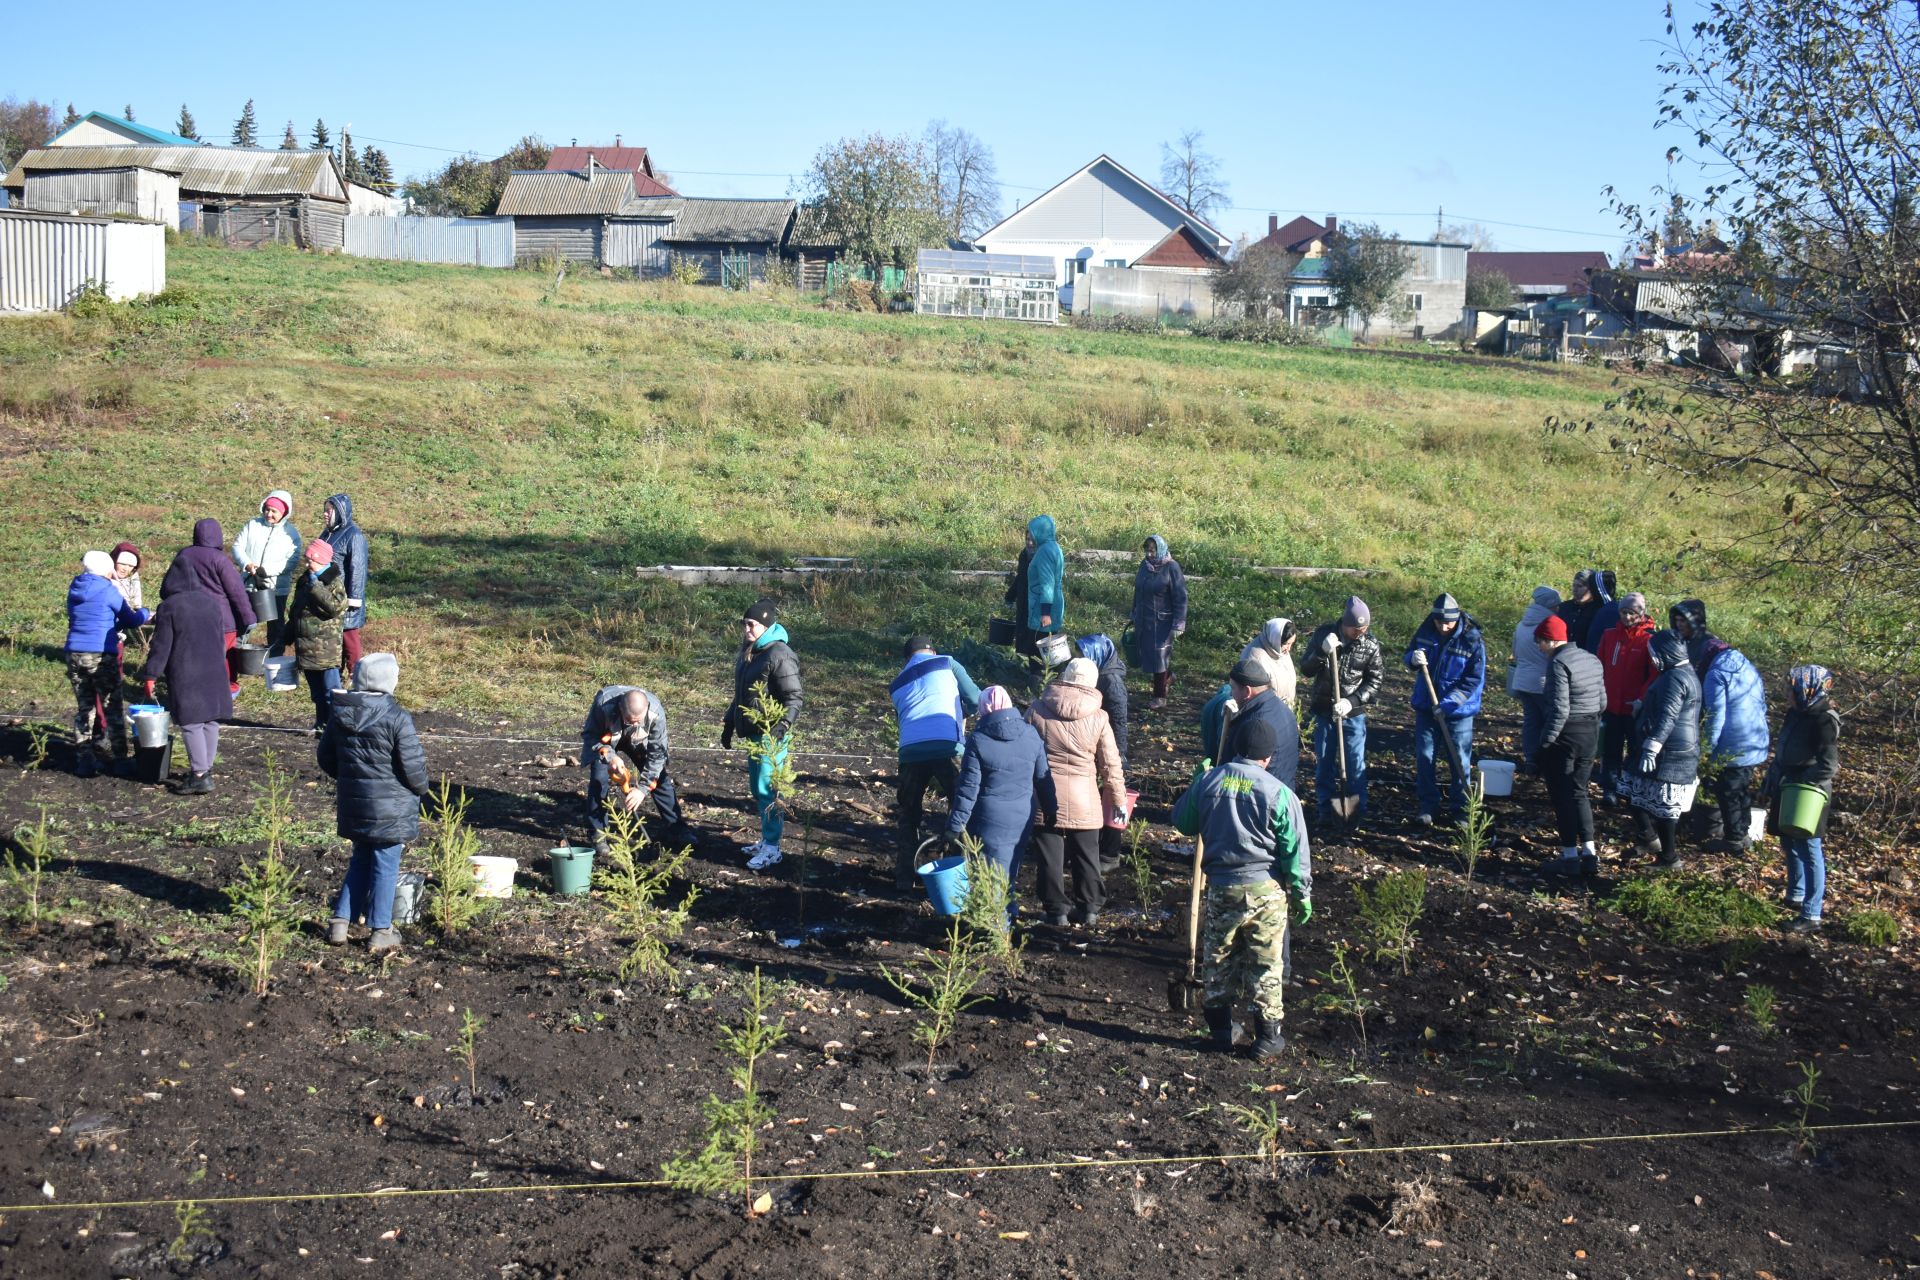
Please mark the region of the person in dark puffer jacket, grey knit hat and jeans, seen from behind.
POLYGON ((319 764, 336 783, 336 831, 353 841, 348 875, 334 898, 326 940, 340 946, 348 927, 365 917, 371 952, 399 946, 394 927, 394 890, 399 856, 420 835, 420 796, 426 794, 426 752, 413 731, 413 716, 394 699, 399 662, 390 652, 371 652, 353 668, 353 691, 334 695, 332 714, 321 731, 319 764))

